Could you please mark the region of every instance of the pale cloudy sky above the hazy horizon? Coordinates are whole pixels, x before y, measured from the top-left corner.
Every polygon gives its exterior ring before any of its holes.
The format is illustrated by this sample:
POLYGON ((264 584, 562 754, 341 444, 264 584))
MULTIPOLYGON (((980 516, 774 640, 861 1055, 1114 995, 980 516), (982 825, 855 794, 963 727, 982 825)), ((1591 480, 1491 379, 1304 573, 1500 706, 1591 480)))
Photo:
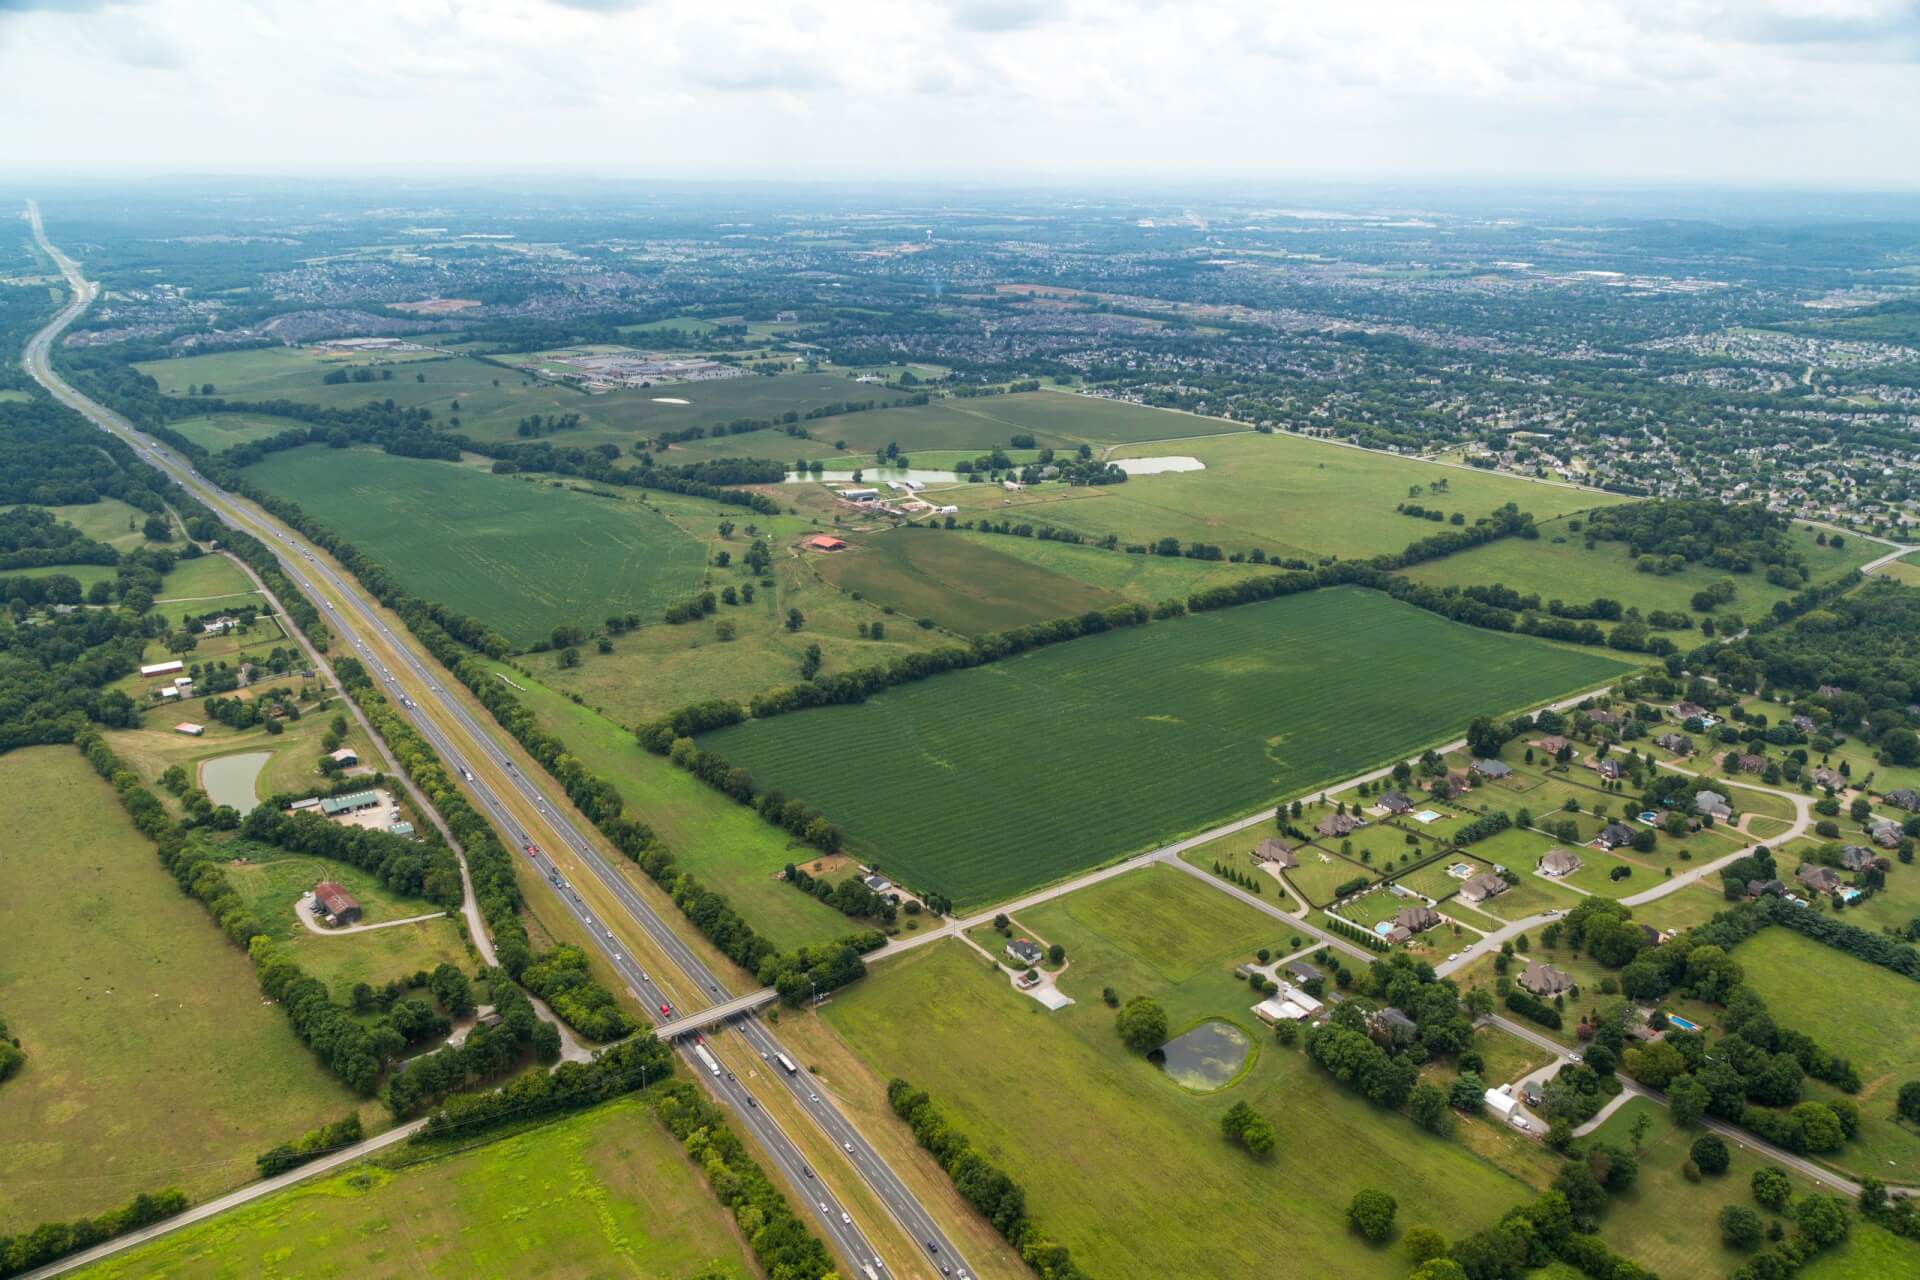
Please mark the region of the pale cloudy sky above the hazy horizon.
POLYGON ((0 171, 1920 186, 1920 0, 0 0, 0 171))

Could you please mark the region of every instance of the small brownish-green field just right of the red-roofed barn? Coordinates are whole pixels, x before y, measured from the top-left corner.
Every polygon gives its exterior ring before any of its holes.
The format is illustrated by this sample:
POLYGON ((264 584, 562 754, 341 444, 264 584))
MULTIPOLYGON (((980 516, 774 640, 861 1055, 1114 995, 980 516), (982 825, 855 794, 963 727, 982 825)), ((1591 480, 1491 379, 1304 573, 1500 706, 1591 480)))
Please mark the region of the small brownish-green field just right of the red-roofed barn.
MULTIPOLYGON (((1006 537, 1000 541, 1025 541, 1006 537)), ((970 635, 1085 614, 1121 597, 1050 568, 1016 560, 985 541, 893 530, 816 560, 820 576, 847 593, 970 635)), ((900 626, 910 626, 904 620, 900 626)))

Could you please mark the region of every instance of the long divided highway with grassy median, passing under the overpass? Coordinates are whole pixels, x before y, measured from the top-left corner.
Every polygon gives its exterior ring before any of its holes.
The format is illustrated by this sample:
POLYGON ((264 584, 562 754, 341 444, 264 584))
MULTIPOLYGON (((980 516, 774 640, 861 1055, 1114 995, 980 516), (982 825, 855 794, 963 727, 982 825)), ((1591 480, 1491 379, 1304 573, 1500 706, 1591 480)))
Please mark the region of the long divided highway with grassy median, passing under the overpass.
MULTIPOLYGON (((636 994, 645 992, 641 1000, 653 1006, 668 1004, 672 1000, 668 988, 689 992, 684 998, 689 1006, 693 1002, 710 1004, 714 996, 724 996, 720 981, 693 948, 611 865, 609 856, 601 852, 593 839, 597 833, 593 833, 584 818, 574 814, 564 794, 555 789, 555 794, 549 798, 541 783, 534 779, 532 764, 526 768, 515 766, 513 758, 518 754, 518 747, 492 722, 482 725, 480 718, 457 695, 449 693, 455 681, 442 672, 432 656, 419 649, 417 641, 390 629, 378 608, 363 597, 359 585, 346 572, 334 570, 324 555, 307 549, 298 533, 286 530, 252 503, 236 499, 207 482, 188 461, 140 434, 121 415, 81 395, 54 370, 50 359, 52 344, 61 330, 86 311, 96 296, 96 286, 81 274, 73 259, 60 253, 46 238, 38 207, 29 203, 27 215, 40 249, 54 259, 73 290, 73 301, 27 342, 25 365, 33 378, 56 399, 84 415, 102 430, 131 443, 142 459, 163 470, 182 489, 194 493, 225 524, 259 537, 273 549, 275 558, 288 578, 315 597, 326 626, 386 685, 386 697, 394 702, 394 710, 432 745, 449 770, 465 779, 465 789, 474 804, 488 814, 509 841, 536 850, 530 854, 532 862, 541 877, 555 887, 555 898, 584 925, 586 935, 607 960, 609 967, 636 994), (563 867, 547 852, 540 850, 532 827, 543 831, 549 846, 563 848, 568 858, 578 860, 578 865, 588 869, 628 919, 597 919, 578 889, 566 883, 563 867), (637 927, 672 961, 678 969, 678 981, 668 975, 645 973, 628 954, 626 944, 616 938, 612 931, 616 925, 620 929, 637 927)), ((778 1042, 766 1027, 751 1023, 745 1027, 745 1034, 751 1044, 762 1046, 762 1052, 770 1055, 780 1052, 778 1042)), ((803 1199, 803 1209, 814 1215, 818 1230, 851 1263, 849 1270, 860 1272, 866 1263, 881 1261, 862 1228, 856 1222, 843 1221, 837 1197, 814 1178, 806 1157, 781 1132, 766 1107, 758 1103, 749 1105, 751 1090, 733 1079, 733 1073, 708 1075, 693 1055, 693 1046, 682 1044, 680 1052, 689 1073, 720 1100, 732 1113, 733 1123, 758 1140, 787 1186, 803 1199)), ((783 1077, 778 1071, 772 1075, 783 1077)), ((900 1224, 900 1230, 931 1253, 937 1265, 948 1265, 956 1274, 968 1272, 966 1259, 960 1257, 933 1217, 833 1102, 810 1092, 804 1079, 785 1080, 785 1086, 797 1096, 801 1111, 820 1126, 835 1148, 843 1151, 851 1148, 847 1155, 849 1163, 868 1182, 887 1213, 900 1224)), ((922 1263, 912 1259, 887 1263, 887 1270, 895 1268, 922 1270, 922 1263)))

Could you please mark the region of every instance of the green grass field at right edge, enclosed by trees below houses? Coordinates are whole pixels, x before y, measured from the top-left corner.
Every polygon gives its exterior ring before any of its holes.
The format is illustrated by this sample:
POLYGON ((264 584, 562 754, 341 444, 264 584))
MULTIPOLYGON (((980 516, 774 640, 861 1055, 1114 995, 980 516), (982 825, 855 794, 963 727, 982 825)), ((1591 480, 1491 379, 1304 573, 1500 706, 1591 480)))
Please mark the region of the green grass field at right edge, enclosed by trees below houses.
POLYGON ((1920 1134, 1893 1119, 1901 1084, 1920 1080, 1920 983, 1778 927, 1741 942, 1734 960, 1774 1021, 1860 1073, 1860 1134, 1830 1163, 1889 1182, 1920 1180, 1920 1134))

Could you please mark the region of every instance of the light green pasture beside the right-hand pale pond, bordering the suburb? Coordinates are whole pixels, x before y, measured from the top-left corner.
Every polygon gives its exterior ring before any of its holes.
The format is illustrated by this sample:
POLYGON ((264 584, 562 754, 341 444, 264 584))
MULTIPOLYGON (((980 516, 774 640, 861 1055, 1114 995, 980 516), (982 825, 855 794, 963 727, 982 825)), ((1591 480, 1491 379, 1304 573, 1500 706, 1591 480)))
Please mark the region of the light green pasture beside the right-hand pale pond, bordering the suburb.
MULTIPOLYGON (((1179 415, 1164 415, 1179 416, 1179 415)), ((1183 439, 1177 445, 1131 445, 1123 457, 1188 455, 1206 470, 1137 476, 1100 489, 1029 493, 1027 505, 996 514, 1056 524, 1092 537, 1117 535, 1123 543, 1215 543, 1225 551, 1252 551, 1283 558, 1338 555, 1346 558, 1400 551, 1448 526, 1411 520, 1394 510, 1413 486, 1446 484, 1423 505, 1457 510, 1469 520, 1505 505, 1548 520, 1605 505, 1605 493, 1588 493, 1517 476, 1440 466, 1415 459, 1348 449, 1298 436, 1240 432, 1219 439, 1183 439)), ((977 487, 977 486, 975 486, 977 487)))

